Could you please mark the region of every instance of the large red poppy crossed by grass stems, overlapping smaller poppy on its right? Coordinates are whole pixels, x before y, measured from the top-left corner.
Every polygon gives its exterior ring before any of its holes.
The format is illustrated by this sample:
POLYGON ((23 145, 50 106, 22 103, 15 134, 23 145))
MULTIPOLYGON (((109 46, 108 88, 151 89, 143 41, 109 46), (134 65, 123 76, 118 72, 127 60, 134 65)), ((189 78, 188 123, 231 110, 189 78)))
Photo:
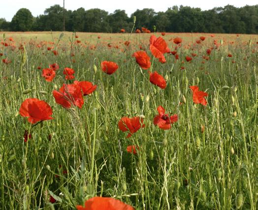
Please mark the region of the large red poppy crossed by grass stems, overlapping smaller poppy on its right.
POLYGON ((54 90, 53 96, 58 104, 65 108, 70 108, 71 104, 79 107, 83 106, 83 95, 81 87, 75 84, 65 85, 59 89, 59 91, 54 90))

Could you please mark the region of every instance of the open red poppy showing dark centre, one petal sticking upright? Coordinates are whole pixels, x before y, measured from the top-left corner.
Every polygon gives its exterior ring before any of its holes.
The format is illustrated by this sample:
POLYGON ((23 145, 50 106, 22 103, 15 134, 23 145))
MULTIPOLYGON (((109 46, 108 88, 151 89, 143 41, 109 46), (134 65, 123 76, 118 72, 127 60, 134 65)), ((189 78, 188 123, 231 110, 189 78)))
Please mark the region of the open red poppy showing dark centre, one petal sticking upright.
POLYGON ((177 115, 168 116, 165 114, 165 109, 162 106, 157 108, 159 115, 155 116, 153 119, 153 124, 158 125, 159 128, 163 130, 168 130, 171 128, 171 124, 178 120, 177 115))

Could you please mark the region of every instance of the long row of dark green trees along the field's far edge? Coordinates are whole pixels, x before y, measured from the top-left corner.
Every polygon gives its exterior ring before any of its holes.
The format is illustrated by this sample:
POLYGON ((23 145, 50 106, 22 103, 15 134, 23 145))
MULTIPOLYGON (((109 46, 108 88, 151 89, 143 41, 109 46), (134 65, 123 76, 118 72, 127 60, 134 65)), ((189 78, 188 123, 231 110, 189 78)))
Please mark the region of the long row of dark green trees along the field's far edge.
POLYGON ((33 17, 30 10, 22 8, 11 22, 0 19, 0 30, 10 31, 62 31, 65 15, 65 30, 86 32, 120 32, 123 28, 131 31, 133 16, 136 16, 136 29, 141 27, 153 31, 166 32, 212 32, 212 33, 258 33, 258 4, 254 6, 215 7, 202 11, 189 6, 173 6, 165 12, 154 9, 137 9, 130 17, 125 10, 115 10, 108 14, 101 9, 79 8, 63 10, 55 4, 44 11, 43 15, 33 17))

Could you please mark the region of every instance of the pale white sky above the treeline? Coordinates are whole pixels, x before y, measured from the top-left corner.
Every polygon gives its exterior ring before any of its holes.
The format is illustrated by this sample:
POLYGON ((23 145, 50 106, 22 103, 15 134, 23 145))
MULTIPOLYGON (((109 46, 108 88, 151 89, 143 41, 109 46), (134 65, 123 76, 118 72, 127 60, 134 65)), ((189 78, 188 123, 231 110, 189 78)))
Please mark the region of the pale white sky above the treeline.
MULTIPOLYGON (((62 6, 63 0, 0 0, 0 18, 11 21, 20 8, 29 9, 32 15, 36 17, 43 14, 46 8, 54 4, 62 6)), ((258 0, 65 0, 65 8, 68 10, 75 10, 80 7, 84 7, 85 10, 100 8, 112 13, 116 9, 124 9, 129 16, 136 9, 143 8, 153 8, 156 12, 159 12, 166 11, 168 7, 174 5, 184 5, 207 10, 213 7, 223 7, 227 4, 242 7, 256 5, 258 0)))

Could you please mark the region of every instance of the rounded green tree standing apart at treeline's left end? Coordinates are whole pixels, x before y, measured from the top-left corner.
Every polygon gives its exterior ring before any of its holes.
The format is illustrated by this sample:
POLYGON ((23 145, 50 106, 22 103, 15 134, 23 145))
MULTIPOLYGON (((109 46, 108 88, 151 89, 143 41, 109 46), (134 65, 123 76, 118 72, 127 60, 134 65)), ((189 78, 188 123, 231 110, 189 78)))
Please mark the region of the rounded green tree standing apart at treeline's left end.
POLYGON ((21 8, 13 16, 10 29, 13 31, 32 30, 33 16, 29 9, 21 8))

